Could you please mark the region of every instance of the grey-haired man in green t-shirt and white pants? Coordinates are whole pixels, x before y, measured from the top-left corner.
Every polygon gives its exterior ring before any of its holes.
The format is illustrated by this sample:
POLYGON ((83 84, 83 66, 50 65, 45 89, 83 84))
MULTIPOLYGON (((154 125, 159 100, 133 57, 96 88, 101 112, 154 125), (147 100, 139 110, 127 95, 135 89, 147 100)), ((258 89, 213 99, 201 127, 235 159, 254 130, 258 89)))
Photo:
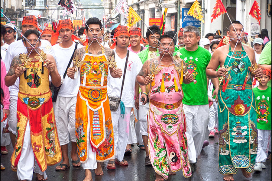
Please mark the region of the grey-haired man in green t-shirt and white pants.
MULTIPOLYGON (((183 84, 183 109, 186 116, 188 141, 188 155, 191 165, 196 164, 205 138, 205 132, 209 121, 208 88, 206 67, 211 59, 208 50, 198 46, 200 40, 199 29, 194 26, 186 26, 183 31, 184 45, 174 55, 180 55, 187 64, 187 69, 194 76, 193 84, 183 84)), ((218 92, 218 79, 212 80, 218 92)), ((192 167, 192 166, 191 166, 192 167)), ((192 167, 193 171, 193 167, 192 167)))

